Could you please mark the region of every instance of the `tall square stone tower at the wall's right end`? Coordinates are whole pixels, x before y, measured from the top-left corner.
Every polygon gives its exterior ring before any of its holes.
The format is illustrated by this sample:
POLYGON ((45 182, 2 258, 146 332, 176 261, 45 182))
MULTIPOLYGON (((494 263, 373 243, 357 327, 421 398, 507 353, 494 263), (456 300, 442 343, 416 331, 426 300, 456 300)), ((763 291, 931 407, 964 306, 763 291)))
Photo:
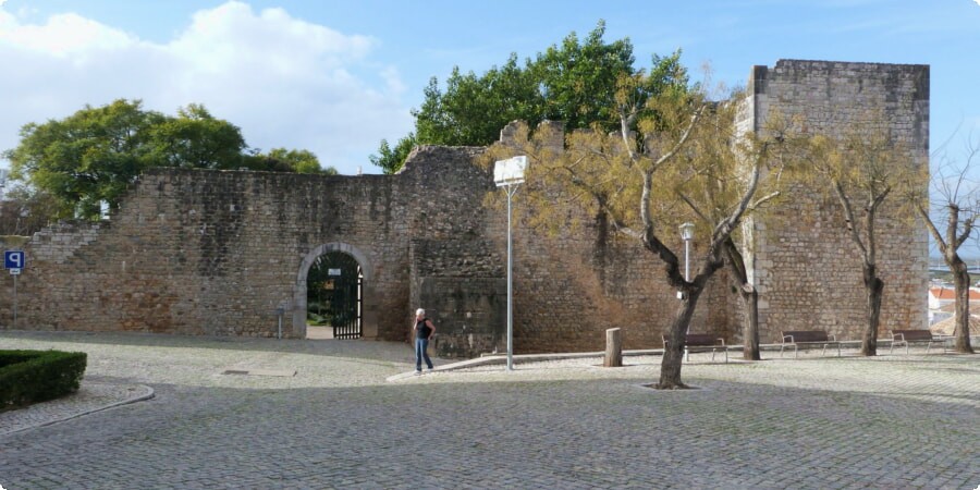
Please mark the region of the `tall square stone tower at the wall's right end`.
MULTIPOLYGON (((928 164, 927 65, 781 60, 771 69, 754 69, 749 94, 738 121, 742 131, 761 131, 774 113, 799 118, 812 134, 840 135, 857 123, 869 134, 885 131, 910 144, 910 164, 928 164)), ((775 341, 780 330, 810 329, 860 339, 867 295, 860 256, 842 226, 840 205, 799 188, 793 195, 749 228, 762 341, 775 341)), ((883 211, 878 261, 885 291, 879 334, 895 326, 924 328, 926 229, 909 211, 883 211)))

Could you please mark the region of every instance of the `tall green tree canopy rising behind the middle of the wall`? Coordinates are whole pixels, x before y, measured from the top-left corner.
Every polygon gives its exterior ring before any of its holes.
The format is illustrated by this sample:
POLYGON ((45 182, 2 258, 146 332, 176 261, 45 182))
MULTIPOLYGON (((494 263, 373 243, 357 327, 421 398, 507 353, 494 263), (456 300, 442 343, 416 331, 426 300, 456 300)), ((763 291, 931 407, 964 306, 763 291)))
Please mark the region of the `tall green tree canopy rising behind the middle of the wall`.
MULTIPOLYGON (((519 63, 512 53, 500 68, 482 75, 462 73, 454 68, 445 90, 432 77, 425 88, 421 107, 414 110, 415 131, 392 147, 381 140, 373 164, 394 173, 416 145, 487 146, 500 130, 515 120, 536 126, 543 120, 563 121, 565 127, 620 127, 615 113, 618 83, 636 76, 633 44, 628 38, 605 42, 605 23, 600 21, 584 40, 573 32, 562 44, 539 52, 535 60, 519 63)), ((652 69, 634 87, 632 96, 640 106, 651 94, 667 86, 686 89, 687 72, 681 52, 653 56, 652 69)))

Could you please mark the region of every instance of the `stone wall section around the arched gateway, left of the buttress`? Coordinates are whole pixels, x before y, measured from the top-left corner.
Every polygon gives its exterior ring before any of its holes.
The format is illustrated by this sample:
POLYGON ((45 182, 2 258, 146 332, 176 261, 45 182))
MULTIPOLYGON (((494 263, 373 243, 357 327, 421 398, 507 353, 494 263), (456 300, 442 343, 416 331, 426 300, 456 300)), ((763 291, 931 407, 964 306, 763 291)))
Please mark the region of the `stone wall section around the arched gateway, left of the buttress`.
POLYGON ((22 324, 272 335, 284 307, 284 334, 303 336, 292 321, 305 306, 305 287, 295 294, 301 268, 327 245, 362 258, 371 279, 366 329, 393 336, 378 326, 407 309, 397 275, 407 268, 404 212, 378 176, 152 170, 111 221, 54 228, 27 244, 22 324))

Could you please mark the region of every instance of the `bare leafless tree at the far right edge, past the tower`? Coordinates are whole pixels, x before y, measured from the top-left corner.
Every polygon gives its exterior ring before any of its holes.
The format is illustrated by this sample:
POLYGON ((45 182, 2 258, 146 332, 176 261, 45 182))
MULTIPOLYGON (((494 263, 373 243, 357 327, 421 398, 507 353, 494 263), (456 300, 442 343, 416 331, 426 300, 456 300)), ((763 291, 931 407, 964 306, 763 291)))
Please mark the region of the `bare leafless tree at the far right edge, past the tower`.
POLYGON ((954 350, 973 354, 970 345, 970 272, 959 249, 973 235, 980 216, 980 187, 970 179, 970 171, 976 170, 980 160, 980 138, 968 138, 964 154, 961 162, 950 159, 946 154, 940 156, 932 174, 930 195, 920 192, 909 196, 953 273, 956 292, 954 350), (945 224, 945 230, 941 232, 936 224, 945 224))

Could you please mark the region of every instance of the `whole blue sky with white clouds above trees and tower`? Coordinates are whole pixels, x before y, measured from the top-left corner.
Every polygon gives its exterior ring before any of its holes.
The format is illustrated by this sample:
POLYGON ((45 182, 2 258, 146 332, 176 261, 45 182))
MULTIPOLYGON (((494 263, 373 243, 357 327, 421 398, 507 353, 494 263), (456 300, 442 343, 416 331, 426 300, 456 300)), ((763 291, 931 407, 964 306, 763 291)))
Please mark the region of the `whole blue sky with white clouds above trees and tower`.
POLYGON ((25 123, 139 98, 379 173, 368 156, 412 130, 431 76, 534 57, 600 19, 638 66, 681 48, 730 86, 779 59, 929 64, 932 148, 980 136, 980 0, 0 0, 0 149, 25 123))

